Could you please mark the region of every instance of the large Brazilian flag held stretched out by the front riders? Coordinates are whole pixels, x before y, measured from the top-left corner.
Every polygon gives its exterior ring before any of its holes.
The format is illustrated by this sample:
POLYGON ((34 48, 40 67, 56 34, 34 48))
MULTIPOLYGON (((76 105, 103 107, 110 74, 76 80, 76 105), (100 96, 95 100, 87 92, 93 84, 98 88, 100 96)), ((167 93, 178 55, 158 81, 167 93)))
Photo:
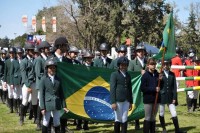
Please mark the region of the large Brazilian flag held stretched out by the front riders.
MULTIPOLYGON (((113 71, 106 68, 86 67, 59 62, 58 76, 62 81, 65 102, 69 113, 62 117, 87 119, 97 122, 114 120, 114 111, 110 101, 110 75, 113 71)), ((140 73, 130 72, 132 77, 133 110, 128 120, 144 117, 142 94, 140 92, 140 73)))

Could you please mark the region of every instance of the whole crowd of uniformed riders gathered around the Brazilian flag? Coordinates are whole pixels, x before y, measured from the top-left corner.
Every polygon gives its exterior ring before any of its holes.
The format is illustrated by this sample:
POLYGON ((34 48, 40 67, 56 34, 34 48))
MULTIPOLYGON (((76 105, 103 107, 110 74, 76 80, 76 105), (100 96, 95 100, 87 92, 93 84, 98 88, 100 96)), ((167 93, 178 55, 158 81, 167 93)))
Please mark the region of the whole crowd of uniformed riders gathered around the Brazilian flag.
MULTIPOLYGON (((67 128, 67 119, 60 116, 63 109, 66 113, 64 93, 61 88, 61 79, 56 75, 57 62, 85 65, 87 67, 102 67, 115 69, 110 76, 111 108, 114 110, 115 133, 127 132, 128 111, 132 110, 133 96, 131 76, 128 71, 141 72, 141 93, 145 118, 143 122, 144 133, 155 133, 155 117, 159 109, 160 124, 163 133, 165 127, 165 105, 169 107, 176 133, 183 133, 179 128, 176 113, 177 88, 179 82, 176 77, 199 76, 198 70, 171 70, 171 65, 198 65, 196 53, 193 49, 188 57, 181 59, 181 50, 176 48, 176 56, 163 62, 163 71, 156 70, 155 59, 146 56, 144 45, 135 48, 135 57, 127 58, 127 47, 120 45, 117 48, 118 57, 111 59, 109 45, 102 43, 99 46, 100 55, 95 57, 90 50, 81 53, 81 60, 77 59, 79 49, 69 45, 65 37, 59 37, 54 45, 42 41, 38 46, 26 43, 24 48, 9 47, 8 51, 1 49, 0 55, 0 97, 3 104, 9 107, 9 113, 19 115, 19 124, 23 126, 26 113, 29 119, 36 123, 36 130, 43 133, 51 132, 52 127, 56 133, 73 132, 67 128), (25 51, 24 51, 25 50, 25 51), (155 104, 157 100, 157 104, 155 104)), ((186 81, 187 87, 198 86, 199 81, 186 81)), ((188 112, 197 109, 198 91, 186 92, 188 112)), ((88 121, 74 119, 76 130, 89 130, 88 121)), ((135 120, 135 129, 140 130, 139 119, 135 120)))

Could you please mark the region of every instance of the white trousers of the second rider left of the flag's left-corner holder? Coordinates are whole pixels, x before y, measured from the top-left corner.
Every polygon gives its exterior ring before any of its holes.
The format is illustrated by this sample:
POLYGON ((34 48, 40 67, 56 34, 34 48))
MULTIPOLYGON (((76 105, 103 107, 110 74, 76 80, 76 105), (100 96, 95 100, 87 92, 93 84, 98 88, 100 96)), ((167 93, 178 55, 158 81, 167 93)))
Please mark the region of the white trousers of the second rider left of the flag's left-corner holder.
POLYGON ((28 92, 28 88, 26 87, 26 85, 24 84, 22 87, 22 104, 24 106, 26 106, 28 104, 28 102, 30 102, 29 100, 31 100, 32 105, 37 105, 37 90, 35 89, 35 83, 31 84, 32 92, 29 93, 28 92))

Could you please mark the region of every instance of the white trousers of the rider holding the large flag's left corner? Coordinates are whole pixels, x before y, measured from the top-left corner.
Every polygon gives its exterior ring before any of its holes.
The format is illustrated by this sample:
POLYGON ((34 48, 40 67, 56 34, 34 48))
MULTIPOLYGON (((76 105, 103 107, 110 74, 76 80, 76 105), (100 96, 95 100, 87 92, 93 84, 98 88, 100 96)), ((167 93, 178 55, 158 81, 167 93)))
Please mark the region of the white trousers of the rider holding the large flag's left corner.
POLYGON ((50 116, 53 117, 53 126, 54 127, 60 126, 60 111, 59 110, 45 112, 45 114, 43 115, 43 125, 45 127, 48 127, 50 116))

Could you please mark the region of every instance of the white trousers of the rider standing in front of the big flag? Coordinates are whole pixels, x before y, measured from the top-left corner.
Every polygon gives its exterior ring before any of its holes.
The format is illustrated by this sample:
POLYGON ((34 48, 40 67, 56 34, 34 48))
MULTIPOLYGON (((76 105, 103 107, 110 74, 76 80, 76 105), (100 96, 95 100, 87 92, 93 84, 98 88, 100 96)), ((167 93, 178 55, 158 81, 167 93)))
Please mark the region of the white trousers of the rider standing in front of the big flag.
POLYGON ((125 123, 128 117, 128 110, 130 103, 128 101, 117 102, 117 109, 114 111, 115 113, 115 121, 125 123))

